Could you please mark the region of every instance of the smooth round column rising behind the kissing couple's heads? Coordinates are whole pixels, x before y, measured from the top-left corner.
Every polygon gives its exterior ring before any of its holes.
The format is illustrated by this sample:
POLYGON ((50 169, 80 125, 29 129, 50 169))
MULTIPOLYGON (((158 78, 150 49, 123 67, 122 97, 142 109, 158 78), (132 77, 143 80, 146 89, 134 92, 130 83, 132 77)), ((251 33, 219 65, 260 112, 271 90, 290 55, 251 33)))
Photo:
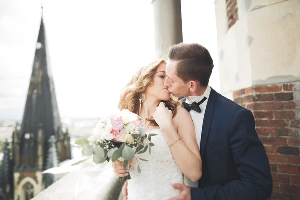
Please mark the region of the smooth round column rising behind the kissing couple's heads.
POLYGON ((183 41, 181 1, 153 0, 152 4, 156 57, 165 58, 170 46, 183 41))

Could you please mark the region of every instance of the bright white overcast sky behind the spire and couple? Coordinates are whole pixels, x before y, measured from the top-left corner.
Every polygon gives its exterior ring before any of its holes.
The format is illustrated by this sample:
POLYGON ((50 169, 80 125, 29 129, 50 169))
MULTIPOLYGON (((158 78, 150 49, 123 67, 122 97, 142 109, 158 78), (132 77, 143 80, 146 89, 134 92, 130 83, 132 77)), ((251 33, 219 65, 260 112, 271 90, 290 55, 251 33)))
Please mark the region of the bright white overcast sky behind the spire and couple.
MULTIPOLYGON (((0 0, 0 119, 22 118, 41 4, 60 116, 109 113, 136 69, 155 59, 151 0, 0 0)), ((209 50, 219 92, 214 1, 181 7, 183 42, 209 50)))

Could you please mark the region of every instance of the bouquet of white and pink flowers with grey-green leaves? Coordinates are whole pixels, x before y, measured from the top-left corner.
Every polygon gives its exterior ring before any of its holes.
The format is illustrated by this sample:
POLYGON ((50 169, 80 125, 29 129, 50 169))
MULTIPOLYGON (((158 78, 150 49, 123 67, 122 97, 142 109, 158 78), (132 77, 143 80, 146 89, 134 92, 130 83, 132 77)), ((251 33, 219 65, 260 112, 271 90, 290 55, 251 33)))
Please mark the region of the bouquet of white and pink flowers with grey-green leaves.
MULTIPOLYGON (((114 162, 117 159, 123 161, 124 168, 128 161, 135 157, 135 154, 145 153, 149 148, 151 153, 151 137, 156 134, 146 135, 144 122, 137 115, 129 110, 122 110, 117 114, 103 117, 95 125, 93 134, 88 138, 81 138, 75 144, 83 146, 82 154, 93 156, 93 162, 101 164, 110 159, 114 162), (144 140, 148 140, 144 142, 144 140)), ((142 161, 148 161, 141 159, 142 161)), ((141 169, 138 165, 138 173, 141 169)), ((121 181, 131 179, 130 173, 126 177, 120 177, 121 181)))

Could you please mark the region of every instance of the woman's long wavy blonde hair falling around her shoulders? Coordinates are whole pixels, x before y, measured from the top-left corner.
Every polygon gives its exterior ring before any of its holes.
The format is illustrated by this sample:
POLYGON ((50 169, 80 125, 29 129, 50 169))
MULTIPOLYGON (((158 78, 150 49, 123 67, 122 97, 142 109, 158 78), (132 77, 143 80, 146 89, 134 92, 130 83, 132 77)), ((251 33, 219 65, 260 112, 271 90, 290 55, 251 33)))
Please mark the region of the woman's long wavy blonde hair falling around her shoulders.
MULTIPOLYGON (((153 78, 156 74, 157 68, 161 63, 166 63, 163 59, 154 61, 147 66, 141 67, 132 76, 129 83, 124 87, 121 93, 118 108, 120 110, 127 109, 135 114, 139 114, 141 102, 140 99, 145 93, 148 86, 153 84, 153 78)), ((178 99, 171 95, 168 101, 162 101, 166 104, 166 107, 172 111, 173 117, 177 113, 178 99)), ((150 125, 157 126, 153 117, 149 117, 146 121, 150 122, 150 125)))

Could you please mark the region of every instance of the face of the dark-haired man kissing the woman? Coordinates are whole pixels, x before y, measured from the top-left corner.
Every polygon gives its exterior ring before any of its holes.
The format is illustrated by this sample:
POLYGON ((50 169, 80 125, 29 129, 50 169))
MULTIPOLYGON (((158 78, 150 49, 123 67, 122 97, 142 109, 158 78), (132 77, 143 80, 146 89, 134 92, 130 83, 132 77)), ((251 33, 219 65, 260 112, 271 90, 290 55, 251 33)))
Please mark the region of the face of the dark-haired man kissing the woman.
POLYGON ((166 79, 164 81, 164 86, 168 87, 169 92, 176 97, 189 96, 189 84, 184 83, 184 81, 177 76, 177 66, 178 61, 167 60, 166 62, 166 79))

